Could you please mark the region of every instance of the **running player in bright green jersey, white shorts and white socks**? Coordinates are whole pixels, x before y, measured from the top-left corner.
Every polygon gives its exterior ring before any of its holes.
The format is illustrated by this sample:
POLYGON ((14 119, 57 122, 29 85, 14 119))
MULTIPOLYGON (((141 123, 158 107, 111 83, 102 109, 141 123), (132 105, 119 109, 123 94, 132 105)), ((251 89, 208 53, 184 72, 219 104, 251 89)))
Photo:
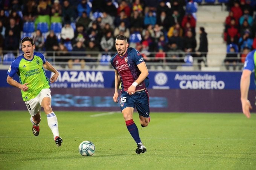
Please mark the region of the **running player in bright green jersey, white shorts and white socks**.
POLYGON ((34 52, 35 44, 32 38, 25 37, 21 40, 21 49, 24 54, 18 56, 7 72, 7 83, 21 89, 23 101, 27 106, 33 124, 32 132, 39 135, 41 121, 41 107, 47 116, 47 122, 52 130, 57 146, 61 146, 62 138, 59 137, 58 120, 51 107, 50 83, 57 80, 58 71, 44 58, 42 53, 34 52), (47 78, 44 68, 53 72, 52 78, 47 78), (13 79, 18 74, 20 82, 13 79))

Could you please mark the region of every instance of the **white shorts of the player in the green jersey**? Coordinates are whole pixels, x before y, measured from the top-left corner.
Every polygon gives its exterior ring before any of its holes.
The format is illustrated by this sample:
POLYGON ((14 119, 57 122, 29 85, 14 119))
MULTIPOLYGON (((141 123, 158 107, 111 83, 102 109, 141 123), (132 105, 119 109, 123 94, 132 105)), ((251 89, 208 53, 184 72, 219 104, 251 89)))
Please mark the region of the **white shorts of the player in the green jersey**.
POLYGON ((27 110, 31 116, 35 116, 35 114, 41 110, 41 102, 45 97, 52 98, 50 89, 41 90, 41 92, 34 99, 30 99, 29 101, 25 102, 27 110))

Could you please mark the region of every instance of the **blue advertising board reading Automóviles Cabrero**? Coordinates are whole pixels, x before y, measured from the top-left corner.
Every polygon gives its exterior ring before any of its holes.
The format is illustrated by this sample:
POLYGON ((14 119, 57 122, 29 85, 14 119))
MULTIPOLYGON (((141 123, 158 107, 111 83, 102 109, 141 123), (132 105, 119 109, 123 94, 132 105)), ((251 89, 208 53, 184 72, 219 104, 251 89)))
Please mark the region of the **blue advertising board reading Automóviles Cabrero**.
MULTIPOLYGON (((239 89, 241 72, 159 72, 149 74, 152 89, 239 89)), ((255 89, 251 74, 250 89, 255 89)))

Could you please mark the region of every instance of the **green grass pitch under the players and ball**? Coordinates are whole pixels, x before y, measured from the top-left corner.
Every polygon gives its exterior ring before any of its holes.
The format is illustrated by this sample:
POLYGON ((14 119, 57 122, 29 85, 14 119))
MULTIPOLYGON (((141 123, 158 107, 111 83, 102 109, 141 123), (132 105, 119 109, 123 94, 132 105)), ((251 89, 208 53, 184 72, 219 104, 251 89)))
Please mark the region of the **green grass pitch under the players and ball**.
POLYGON ((40 134, 32 134, 27 111, 0 112, 0 169, 94 170, 254 170, 256 116, 219 113, 151 113, 142 128, 134 122, 147 152, 136 143, 122 114, 56 111, 61 147, 54 143, 42 112, 40 134), (93 156, 81 156, 84 140, 96 146, 93 156))

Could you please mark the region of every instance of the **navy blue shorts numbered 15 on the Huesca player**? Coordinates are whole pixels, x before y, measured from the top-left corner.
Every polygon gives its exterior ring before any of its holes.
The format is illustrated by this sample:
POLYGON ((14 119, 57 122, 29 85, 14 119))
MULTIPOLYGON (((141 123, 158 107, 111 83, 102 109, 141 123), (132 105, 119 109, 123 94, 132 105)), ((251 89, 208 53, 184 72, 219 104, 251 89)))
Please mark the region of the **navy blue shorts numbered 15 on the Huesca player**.
POLYGON ((149 95, 148 90, 135 92, 129 95, 125 91, 120 94, 120 108, 121 111, 126 107, 136 108, 138 113, 143 117, 149 117, 149 95))

